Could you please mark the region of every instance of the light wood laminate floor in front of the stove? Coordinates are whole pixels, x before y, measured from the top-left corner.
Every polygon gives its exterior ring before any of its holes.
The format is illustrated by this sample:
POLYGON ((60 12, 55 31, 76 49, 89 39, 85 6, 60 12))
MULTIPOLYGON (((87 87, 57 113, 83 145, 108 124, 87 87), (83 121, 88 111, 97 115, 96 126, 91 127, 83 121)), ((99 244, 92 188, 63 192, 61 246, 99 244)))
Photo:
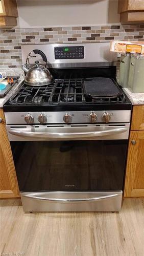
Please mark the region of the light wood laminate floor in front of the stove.
POLYGON ((19 199, 1 200, 0 252, 25 256, 143 256, 144 199, 125 199, 119 213, 32 214, 23 213, 19 199))

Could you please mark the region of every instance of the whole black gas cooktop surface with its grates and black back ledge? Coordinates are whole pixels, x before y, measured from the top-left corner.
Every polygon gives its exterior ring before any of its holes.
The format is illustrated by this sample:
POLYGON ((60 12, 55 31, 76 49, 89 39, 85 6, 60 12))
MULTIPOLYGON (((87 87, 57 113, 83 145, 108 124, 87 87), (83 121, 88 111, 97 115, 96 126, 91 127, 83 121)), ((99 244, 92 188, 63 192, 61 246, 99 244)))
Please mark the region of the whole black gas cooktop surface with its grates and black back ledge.
MULTIPOLYGON (((113 77, 110 68, 52 70, 56 77, 47 86, 27 86, 23 81, 18 91, 5 103, 5 112, 21 111, 84 111, 84 110, 130 110, 131 102, 113 77), (56 72, 56 73, 55 73, 56 72), (100 74, 100 75, 99 75, 100 74), (97 76, 94 76, 97 75, 97 76), (107 76, 106 76, 107 75, 107 76), (80 78, 79 78, 80 77, 80 78), (94 97, 87 95, 85 81, 102 77, 99 94, 94 97), (69 79, 70 78, 70 79, 69 79), (107 80, 118 94, 105 95, 102 88, 109 87, 107 80), (106 81, 104 83, 104 81, 106 81), (100 91, 102 94, 100 95, 100 91)), ((93 83, 91 83, 93 86, 93 83)), ((95 85, 97 89, 97 85, 95 85)), ((107 90, 107 92, 109 89, 107 90)))

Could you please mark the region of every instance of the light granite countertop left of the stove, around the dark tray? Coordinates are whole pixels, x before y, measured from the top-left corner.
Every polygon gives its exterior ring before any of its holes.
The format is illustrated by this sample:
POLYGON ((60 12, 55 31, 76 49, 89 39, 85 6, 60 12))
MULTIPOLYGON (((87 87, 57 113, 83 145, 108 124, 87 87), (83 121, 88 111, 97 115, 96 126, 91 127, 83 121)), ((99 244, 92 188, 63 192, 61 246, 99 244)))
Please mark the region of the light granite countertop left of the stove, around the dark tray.
POLYGON ((6 71, 7 76, 19 76, 19 80, 18 80, 18 83, 12 87, 12 89, 8 92, 8 94, 4 98, 0 98, 0 108, 3 108, 6 101, 17 91, 20 83, 23 81, 23 78, 24 78, 24 72, 21 69, 20 70, 9 69, 4 71, 6 71))

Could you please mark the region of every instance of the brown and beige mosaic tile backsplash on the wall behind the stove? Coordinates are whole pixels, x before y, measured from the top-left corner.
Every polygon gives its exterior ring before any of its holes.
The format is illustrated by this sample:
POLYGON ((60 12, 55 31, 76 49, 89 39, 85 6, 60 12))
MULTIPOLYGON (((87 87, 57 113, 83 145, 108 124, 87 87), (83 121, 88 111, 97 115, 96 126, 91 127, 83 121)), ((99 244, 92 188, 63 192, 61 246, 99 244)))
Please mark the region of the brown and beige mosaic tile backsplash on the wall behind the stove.
POLYGON ((113 39, 144 41, 144 25, 1 29, 0 34, 0 69, 20 69, 21 44, 103 42, 113 39))

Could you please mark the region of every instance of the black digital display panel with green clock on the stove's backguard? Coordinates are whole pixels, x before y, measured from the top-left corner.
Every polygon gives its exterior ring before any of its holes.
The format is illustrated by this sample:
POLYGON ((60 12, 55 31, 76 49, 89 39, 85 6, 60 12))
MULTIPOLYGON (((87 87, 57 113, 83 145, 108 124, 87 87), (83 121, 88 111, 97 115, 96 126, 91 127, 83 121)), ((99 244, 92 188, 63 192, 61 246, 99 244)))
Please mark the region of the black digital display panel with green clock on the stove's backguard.
POLYGON ((84 46, 55 47, 55 59, 83 59, 84 46))

